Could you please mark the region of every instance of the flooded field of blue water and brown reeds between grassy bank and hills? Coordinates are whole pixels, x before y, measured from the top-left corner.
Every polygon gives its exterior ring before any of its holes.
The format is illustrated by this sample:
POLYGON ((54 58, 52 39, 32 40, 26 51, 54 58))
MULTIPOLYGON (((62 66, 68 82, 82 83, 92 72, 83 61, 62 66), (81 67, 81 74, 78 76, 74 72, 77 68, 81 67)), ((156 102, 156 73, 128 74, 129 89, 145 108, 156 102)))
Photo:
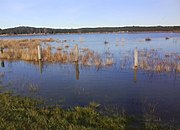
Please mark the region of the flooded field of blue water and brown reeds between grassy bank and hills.
POLYGON ((113 112, 138 116, 153 112, 162 120, 180 122, 180 33, 1 36, 0 47, 4 40, 50 38, 40 41, 44 54, 40 62, 33 48, 24 46, 26 51, 16 56, 18 42, 12 48, 3 46, 1 92, 13 91, 63 107, 94 101, 113 112), (78 62, 74 62, 75 44, 78 62))

